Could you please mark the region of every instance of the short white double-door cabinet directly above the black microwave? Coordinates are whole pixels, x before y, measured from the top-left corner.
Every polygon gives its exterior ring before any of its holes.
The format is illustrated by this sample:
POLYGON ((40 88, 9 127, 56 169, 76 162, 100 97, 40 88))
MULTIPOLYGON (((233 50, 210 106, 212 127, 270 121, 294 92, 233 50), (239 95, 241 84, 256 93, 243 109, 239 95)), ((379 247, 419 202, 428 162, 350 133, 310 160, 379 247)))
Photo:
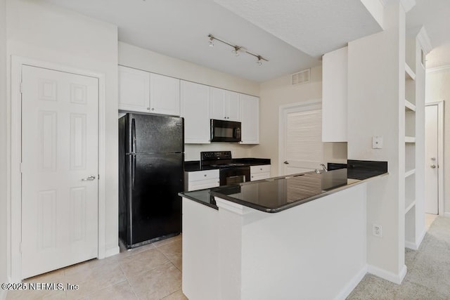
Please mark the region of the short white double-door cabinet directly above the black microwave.
POLYGON ((210 88, 210 93, 211 119, 240 121, 240 98, 238 93, 214 87, 210 88))

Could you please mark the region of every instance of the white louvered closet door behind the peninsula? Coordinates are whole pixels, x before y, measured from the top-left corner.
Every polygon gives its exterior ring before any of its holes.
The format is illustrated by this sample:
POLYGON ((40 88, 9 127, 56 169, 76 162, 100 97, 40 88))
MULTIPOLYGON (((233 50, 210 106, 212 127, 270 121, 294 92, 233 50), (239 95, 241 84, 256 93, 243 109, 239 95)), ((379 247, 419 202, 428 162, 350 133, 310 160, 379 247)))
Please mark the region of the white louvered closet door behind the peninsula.
MULTIPOLYGON (((321 105, 301 105, 285 109, 284 175, 319 169, 322 163, 321 105)), ((283 163, 284 162, 284 163, 283 163)))

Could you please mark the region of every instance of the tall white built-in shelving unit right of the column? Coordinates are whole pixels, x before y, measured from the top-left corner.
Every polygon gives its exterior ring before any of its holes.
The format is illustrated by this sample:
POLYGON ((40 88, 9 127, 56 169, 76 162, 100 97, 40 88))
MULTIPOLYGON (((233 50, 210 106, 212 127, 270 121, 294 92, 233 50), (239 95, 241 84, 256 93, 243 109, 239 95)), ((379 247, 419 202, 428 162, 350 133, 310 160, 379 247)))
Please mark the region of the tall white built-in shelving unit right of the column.
MULTIPOLYGON (((424 32, 406 37, 404 95, 404 222, 405 247, 418 249, 425 234, 425 62, 424 32), (422 124, 422 126, 420 126, 422 124)), ((426 33, 425 33, 426 34, 426 33)), ((401 99, 400 99, 401 100, 401 99)))

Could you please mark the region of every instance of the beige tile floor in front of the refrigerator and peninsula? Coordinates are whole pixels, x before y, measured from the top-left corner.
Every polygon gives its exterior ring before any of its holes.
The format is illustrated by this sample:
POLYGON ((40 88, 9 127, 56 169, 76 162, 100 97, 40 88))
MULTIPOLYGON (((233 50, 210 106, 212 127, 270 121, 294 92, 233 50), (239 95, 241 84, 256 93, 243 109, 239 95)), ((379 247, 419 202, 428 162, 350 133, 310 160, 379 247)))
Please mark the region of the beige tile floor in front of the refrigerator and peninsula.
POLYGON ((187 299, 181 292, 181 235, 24 282, 70 283, 79 289, 10 291, 6 299, 187 299))

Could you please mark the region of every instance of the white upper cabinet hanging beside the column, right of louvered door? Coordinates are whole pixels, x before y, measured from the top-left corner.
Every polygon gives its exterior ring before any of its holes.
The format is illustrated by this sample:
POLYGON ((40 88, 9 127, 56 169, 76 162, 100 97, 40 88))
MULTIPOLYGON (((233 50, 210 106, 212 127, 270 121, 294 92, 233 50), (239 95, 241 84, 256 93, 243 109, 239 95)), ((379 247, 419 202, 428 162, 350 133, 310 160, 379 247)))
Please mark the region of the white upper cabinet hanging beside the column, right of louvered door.
POLYGON ((322 59, 322 141, 347 142, 348 48, 322 59))

